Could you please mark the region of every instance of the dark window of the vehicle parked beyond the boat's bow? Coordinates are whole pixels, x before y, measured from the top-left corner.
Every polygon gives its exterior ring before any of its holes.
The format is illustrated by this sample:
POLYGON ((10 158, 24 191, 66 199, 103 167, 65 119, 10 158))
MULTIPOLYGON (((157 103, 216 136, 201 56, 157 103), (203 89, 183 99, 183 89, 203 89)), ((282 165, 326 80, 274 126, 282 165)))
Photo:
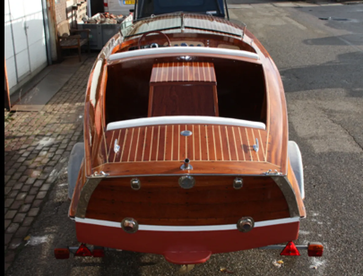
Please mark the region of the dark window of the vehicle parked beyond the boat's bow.
POLYGON ((224 17, 220 0, 143 0, 139 1, 138 17, 149 17, 172 12, 195 12, 224 17))

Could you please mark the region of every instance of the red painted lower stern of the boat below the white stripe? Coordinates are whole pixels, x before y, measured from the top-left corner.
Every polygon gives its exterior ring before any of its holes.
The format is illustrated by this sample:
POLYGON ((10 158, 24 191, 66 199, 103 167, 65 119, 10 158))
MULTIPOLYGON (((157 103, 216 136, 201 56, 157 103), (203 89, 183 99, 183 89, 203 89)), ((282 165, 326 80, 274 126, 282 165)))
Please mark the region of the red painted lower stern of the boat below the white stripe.
POLYGON ((214 253, 286 243, 298 238, 299 222, 254 227, 250 232, 148 231, 134 234, 122 228, 76 222, 79 242, 127 251, 154 253, 177 264, 203 263, 214 253))

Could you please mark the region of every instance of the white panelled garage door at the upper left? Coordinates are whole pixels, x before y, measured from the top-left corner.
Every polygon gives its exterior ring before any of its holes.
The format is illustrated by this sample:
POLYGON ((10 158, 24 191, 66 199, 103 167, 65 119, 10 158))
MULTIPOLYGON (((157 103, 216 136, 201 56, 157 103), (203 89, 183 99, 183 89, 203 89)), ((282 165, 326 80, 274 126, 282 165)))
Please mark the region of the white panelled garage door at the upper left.
POLYGON ((42 0, 5 0, 9 88, 47 65, 42 0))

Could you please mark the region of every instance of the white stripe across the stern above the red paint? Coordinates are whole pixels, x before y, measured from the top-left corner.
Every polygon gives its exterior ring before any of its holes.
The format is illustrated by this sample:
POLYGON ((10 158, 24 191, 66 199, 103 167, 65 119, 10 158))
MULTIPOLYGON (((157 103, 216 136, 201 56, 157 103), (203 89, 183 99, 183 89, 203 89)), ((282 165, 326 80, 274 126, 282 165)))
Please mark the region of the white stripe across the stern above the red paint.
MULTIPOLYGON (((121 228, 121 222, 102 221, 99 219, 77 218, 77 217, 75 218, 75 220, 76 222, 80 223, 121 228)), ((300 221, 300 217, 273 219, 270 221, 255 222, 254 227, 271 226, 276 224, 284 224, 284 223, 291 223, 298 221, 300 221)), ((236 229, 237 229, 236 224, 203 225, 203 226, 162 226, 162 225, 139 224, 139 230, 147 230, 147 231, 216 231, 216 230, 236 230, 236 229)))

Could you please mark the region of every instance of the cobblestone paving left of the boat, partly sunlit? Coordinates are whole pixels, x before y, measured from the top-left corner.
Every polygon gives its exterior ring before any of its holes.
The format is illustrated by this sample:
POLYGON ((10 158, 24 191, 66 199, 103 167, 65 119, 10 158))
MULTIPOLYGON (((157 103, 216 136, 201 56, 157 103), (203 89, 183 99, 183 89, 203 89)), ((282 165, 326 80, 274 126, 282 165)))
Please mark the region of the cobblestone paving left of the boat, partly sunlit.
POLYGON ((73 145, 83 139, 85 90, 95 56, 89 55, 40 112, 5 112, 5 271, 66 170, 73 145))

